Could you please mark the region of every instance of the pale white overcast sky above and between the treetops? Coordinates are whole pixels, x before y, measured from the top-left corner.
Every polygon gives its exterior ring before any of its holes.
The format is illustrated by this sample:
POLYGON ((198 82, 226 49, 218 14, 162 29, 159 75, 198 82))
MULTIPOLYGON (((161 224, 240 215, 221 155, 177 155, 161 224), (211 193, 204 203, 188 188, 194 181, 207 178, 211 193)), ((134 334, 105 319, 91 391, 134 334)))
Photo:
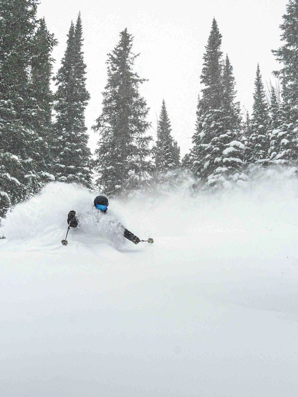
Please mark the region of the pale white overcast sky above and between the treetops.
MULTIPOLYGON (((86 109, 88 129, 101 112, 107 54, 127 27, 134 36, 134 53, 141 54, 135 70, 140 77, 149 79, 141 93, 150 108, 151 132, 156 130, 156 117, 164 98, 172 134, 184 155, 191 147, 195 128, 203 54, 213 17, 223 35, 222 50, 234 68, 237 99, 250 111, 257 63, 264 84, 273 79, 272 71, 279 67, 271 50, 280 46, 279 25, 287 2, 186 0, 174 5, 164 0, 41 0, 38 15, 45 17, 48 29, 59 41, 53 54, 56 71, 64 55, 71 21, 81 12, 87 89, 91 95, 86 109)), ((97 136, 90 132, 92 151, 96 140, 97 136)))

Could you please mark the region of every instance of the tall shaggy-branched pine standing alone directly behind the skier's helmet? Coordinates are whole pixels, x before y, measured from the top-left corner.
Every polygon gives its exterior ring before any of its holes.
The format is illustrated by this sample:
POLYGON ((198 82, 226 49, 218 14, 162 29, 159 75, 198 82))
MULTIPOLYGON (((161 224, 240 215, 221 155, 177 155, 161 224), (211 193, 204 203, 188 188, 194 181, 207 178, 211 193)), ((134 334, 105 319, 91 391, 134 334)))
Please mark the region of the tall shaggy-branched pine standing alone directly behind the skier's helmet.
POLYGON ((152 172, 149 109, 139 93, 145 80, 133 70, 138 55, 132 53, 132 45, 133 36, 125 29, 108 55, 102 112, 93 126, 100 135, 94 162, 97 186, 109 195, 130 191, 152 172))

